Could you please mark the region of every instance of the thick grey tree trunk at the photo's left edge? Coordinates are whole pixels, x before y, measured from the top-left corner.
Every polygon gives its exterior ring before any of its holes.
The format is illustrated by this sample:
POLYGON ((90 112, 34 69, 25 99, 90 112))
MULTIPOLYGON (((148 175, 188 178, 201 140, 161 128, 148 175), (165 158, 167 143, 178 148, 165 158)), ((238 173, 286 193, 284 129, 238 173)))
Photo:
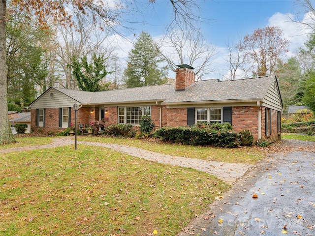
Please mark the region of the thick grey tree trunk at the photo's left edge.
POLYGON ((6 85, 6 47, 5 47, 5 10, 6 0, 0 0, 0 145, 14 143, 7 104, 7 85, 6 85))

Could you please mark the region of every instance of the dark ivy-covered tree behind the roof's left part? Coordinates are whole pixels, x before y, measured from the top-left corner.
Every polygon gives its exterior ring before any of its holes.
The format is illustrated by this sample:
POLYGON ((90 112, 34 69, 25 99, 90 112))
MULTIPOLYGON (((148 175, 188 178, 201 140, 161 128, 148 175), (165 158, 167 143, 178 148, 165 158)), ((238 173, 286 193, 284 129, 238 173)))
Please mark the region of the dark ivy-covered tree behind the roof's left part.
POLYGON ((72 59, 72 74, 78 82, 78 86, 83 91, 97 92, 108 90, 110 83, 104 84, 103 79, 107 75, 105 69, 105 59, 103 56, 97 57, 94 53, 93 62, 89 63, 87 56, 81 62, 74 56, 72 59))

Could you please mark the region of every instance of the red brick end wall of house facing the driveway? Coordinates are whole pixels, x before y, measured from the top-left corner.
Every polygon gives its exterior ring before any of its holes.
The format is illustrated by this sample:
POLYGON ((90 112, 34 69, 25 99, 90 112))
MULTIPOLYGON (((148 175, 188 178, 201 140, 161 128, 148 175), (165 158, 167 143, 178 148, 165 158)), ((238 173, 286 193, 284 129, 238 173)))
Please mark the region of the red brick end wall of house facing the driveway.
POLYGON ((277 122, 277 114, 278 111, 271 109, 271 135, 266 136, 266 109, 265 107, 261 107, 261 139, 267 140, 269 143, 276 142, 281 140, 281 133, 278 134, 278 122, 277 122))

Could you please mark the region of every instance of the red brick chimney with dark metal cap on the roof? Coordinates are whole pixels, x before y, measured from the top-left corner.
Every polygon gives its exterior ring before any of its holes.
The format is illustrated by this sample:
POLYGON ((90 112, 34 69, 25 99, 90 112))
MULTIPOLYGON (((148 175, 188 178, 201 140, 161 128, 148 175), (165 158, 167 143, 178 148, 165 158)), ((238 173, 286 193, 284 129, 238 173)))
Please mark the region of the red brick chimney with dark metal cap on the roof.
POLYGON ((175 91, 182 91, 195 82, 195 73, 192 71, 194 68, 190 65, 183 64, 177 66, 179 68, 176 69, 175 91))

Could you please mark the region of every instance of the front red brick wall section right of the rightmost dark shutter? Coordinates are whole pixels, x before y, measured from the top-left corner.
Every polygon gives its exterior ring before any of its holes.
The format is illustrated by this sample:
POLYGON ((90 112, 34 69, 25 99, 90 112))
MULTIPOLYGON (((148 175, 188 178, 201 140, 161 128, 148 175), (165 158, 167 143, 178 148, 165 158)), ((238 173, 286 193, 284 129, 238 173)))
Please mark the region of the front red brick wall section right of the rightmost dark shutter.
POLYGON ((258 140, 258 108, 232 107, 232 126, 236 132, 244 129, 251 131, 254 140, 258 140))

